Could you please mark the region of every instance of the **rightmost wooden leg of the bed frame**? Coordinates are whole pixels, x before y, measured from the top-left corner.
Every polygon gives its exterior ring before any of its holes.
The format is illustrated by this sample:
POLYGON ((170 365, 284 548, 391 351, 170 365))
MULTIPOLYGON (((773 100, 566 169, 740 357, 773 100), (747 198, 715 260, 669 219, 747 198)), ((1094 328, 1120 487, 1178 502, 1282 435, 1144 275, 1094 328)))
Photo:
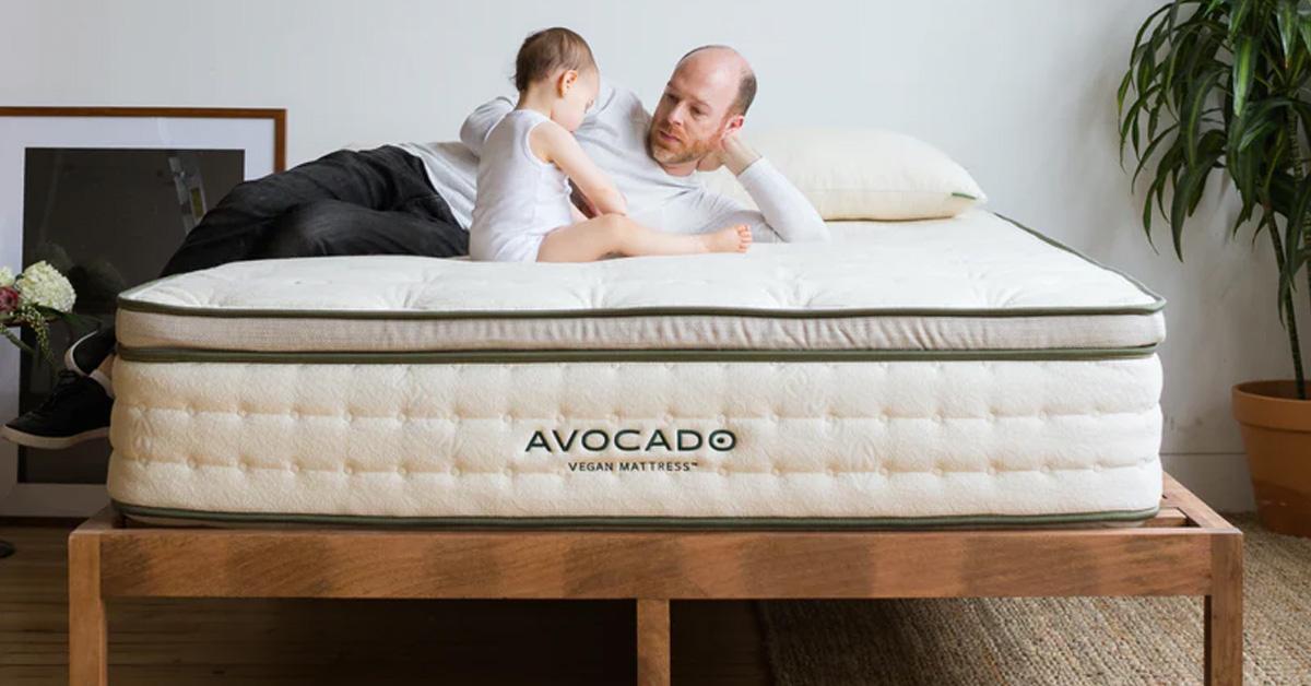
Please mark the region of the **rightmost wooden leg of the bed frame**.
POLYGON ((1205 669, 1209 686, 1243 683, 1243 535, 1211 538, 1205 669))

